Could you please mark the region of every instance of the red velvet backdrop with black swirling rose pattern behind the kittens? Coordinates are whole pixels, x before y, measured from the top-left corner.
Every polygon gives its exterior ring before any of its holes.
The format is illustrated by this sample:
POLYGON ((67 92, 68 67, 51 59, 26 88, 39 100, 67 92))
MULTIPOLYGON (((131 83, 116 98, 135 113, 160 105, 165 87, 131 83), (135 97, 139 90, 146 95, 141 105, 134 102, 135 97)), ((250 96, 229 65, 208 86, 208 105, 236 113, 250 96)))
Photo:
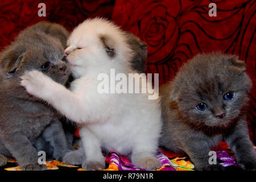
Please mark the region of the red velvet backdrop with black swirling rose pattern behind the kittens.
POLYGON ((256 143, 256 2, 248 0, 2 0, 0 48, 20 30, 42 20, 63 24, 69 31, 86 18, 112 19, 148 44, 148 68, 159 73, 160 84, 171 80, 180 65, 199 52, 222 51, 240 56, 253 79, 247 121, 256 143), (38 4, 46 4, 46 17, 38 16, 38 4), (210 17, 209 3, 217 5, 210 17))

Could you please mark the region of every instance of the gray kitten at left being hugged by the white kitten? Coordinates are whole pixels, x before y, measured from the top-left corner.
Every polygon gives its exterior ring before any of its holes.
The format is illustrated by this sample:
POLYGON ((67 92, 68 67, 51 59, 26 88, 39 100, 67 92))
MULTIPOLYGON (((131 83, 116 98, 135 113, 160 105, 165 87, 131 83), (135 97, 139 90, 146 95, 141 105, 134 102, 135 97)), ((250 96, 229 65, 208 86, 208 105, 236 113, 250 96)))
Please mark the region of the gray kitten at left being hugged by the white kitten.
POLYGON ((56 111, 20 85, 20 76, 32 69, 60 84, 67 82, 71 72, 61 59, 68 36, 64 27, 40 22, 20 32, 1 52, 0 166, 6 157, 14 157, 23 170, 43 170, 39 150, 51 151, 55 159, 69 151, 56 111))

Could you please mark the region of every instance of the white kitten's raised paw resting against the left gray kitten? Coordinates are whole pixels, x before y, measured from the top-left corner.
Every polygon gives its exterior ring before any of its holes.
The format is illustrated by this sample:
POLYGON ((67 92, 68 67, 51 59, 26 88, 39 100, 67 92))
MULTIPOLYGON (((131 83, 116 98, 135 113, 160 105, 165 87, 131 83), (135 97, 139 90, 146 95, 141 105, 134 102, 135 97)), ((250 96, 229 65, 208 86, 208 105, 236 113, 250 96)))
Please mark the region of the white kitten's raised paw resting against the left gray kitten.
POLYGON ((28 93, 40 97, 40 92, 42 92, 48 77, 42 72, 30 71, 25 72, 20 78, 22 79, 20 85, 24 86, 28 93))

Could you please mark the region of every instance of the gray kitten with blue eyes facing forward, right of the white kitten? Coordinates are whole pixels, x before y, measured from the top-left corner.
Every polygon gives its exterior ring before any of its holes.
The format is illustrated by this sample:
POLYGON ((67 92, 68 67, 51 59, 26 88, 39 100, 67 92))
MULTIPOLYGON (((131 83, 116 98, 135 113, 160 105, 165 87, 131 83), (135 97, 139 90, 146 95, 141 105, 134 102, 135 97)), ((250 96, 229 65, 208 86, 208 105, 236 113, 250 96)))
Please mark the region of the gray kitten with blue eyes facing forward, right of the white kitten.
POLYGON ((209 151, 228 143, 243 169, 256 169, 256 155, 246 125, 251 81, 245 63, 222 53, 200 54, 160 87, 163 136, 168 150, 189 155, 198 170, 223 169, 209 164, 209 151))

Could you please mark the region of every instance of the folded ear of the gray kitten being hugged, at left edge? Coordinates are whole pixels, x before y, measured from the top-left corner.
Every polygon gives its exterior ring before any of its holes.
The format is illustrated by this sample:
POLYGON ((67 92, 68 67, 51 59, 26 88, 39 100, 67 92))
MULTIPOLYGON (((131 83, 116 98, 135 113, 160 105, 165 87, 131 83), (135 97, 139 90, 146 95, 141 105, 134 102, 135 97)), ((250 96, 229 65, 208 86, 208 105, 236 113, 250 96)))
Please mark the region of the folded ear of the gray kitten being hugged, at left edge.
POLYGON ((24 53, 16 55, 14 51, 7 51, 1 57, 1 67, 5 71, 6 78, 11 78, 15 75, 22 63, 24 53))

